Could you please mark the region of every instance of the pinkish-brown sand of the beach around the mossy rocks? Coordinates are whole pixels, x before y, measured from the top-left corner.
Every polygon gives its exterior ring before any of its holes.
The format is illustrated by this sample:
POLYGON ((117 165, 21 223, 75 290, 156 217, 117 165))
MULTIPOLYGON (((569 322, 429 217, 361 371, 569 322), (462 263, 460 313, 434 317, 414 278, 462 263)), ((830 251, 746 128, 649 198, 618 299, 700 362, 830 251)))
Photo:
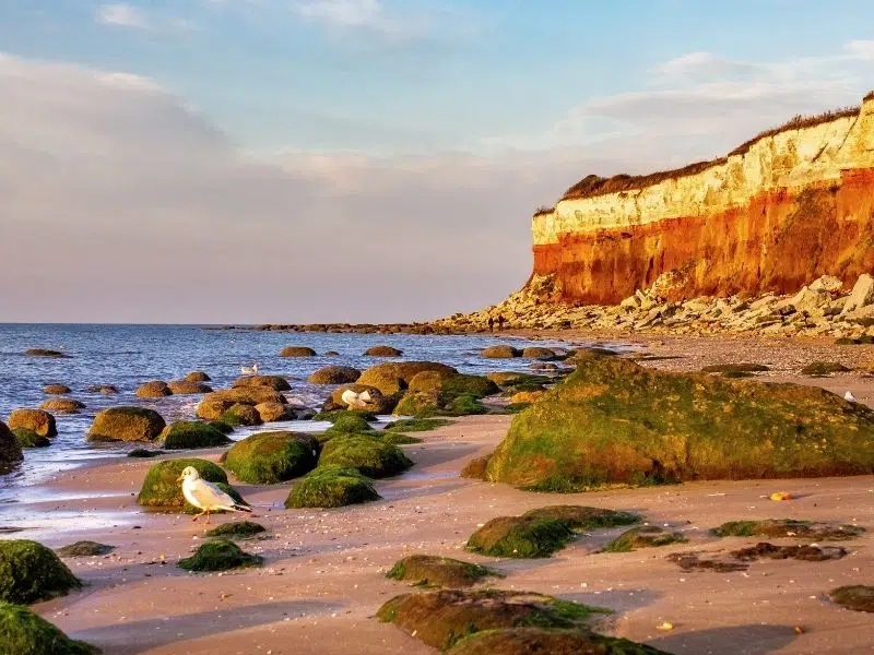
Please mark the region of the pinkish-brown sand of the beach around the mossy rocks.
MULTIPOLYGON (((799 358, 870 355, 822 344, 810 352, 799 344, 786 349, 768 344, 739 347, 734 340, 659 337, 649 343, 649 352, 684 358, 649 364, 688 370, 741 353, 744 360, 781 361, 770 376, 783 380, 795 379, 799 358), (791 367, 787 358, 792 358, 791 367)), ((840 393, 852 388, 860 400, 874 401, 874 380, 855 373, 803 381, 840 393)), ((610 607, 616 614, 607 631, 675 654, 874 652, 872 616, 845 610, 825 597, 837 586, 874 584, 872 476, 695 483, 580 495, 532 493, 460 479, 466 462, 499 443, 509 421, 506 416, 466 417, 420 433, 423 444, 404 446, 416 466, 378 483, 383 500, 366 505, 286 511, 282 502, 290 485, 238 485, 257 507, 255 520, 269 529, 267 538, 241 545, 267 562, 261 569, 225 574, 189 574, 175 565, 202 543, 202 524, 188 516, 146 513, 135 504, 153 461, 127 460, 62 474, 46 486, 55 499, 33 505, 36 515, 45 512, 48 523, 52 512, 72 510, 115 525, 39 539, 55 547, 88 538, 117 548, 105 557, 67 560, 87 586, 35 609, 107 655, 434 653, 371 618, 385 600, 410 591, 387 580, 385 572, 402 556, 420 552, 494 565, 507 573, 500 582, 506 588, 610 607), (773 491, 789 491, 794 500, 771 501, 767 497, 773 491), (495 561, 464 551, 479 524, 557 503, 640 512, 651 524, 682 531, 689 544, 597 553, 622 532, 614 529, 584 535, 543 560, 495 561), (843 543, 850 555, 838 561, 766 560, 751 563, 747 571, 713 573, 684 572, 665 559, 675 551, 724 552, 753 545, 757 539, 711 537, 708 528, 730 520, 781 517, 858 523, 870 532, 843 543), (663 621, 673 623, 673 630, 657 630, 663 621)), ((232 520, 218 516, 213 524, 232 520)))

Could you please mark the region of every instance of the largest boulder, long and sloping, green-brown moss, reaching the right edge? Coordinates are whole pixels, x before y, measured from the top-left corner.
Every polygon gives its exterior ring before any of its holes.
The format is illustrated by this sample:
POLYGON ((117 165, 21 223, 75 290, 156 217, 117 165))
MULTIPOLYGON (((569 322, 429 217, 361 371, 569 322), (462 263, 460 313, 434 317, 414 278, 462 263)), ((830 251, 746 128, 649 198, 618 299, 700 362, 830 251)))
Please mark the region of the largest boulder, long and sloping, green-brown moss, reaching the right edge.
POLYGON ((592 358, 517 415, 491 481, 581 491, 693 479, 859 475, 874 410, 819 388, 592 358))

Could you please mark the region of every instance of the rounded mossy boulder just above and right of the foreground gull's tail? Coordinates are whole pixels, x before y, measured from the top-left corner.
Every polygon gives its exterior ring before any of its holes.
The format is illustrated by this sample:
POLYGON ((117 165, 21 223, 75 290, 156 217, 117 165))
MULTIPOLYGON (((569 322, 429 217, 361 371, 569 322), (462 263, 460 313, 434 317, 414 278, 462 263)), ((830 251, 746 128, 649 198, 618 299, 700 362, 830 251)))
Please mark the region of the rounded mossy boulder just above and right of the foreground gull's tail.
POLYGON ((312 471, 318 442, 297 432, 262 432, 237 441, 225 457, 225 468, 237 479, 255 485, 273 485, 312 471))

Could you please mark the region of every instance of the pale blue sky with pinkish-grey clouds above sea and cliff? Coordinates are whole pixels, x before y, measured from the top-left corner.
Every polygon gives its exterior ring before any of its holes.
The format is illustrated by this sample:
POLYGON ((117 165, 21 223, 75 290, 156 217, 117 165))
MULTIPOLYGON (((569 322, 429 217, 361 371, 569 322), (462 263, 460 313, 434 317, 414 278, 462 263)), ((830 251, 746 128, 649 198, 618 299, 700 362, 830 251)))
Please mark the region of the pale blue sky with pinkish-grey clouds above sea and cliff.
POLYGON ((0 0, 0 322, 427 320, 589 174, 874 88, 874 3, 0 0))

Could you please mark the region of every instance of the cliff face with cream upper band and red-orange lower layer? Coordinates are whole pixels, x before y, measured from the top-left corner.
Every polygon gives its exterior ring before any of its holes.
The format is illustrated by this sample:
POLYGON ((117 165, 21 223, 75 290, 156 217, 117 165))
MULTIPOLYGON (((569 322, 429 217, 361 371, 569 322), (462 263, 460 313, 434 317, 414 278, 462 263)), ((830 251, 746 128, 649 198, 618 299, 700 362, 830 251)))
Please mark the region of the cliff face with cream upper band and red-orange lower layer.
POLYGON ((711 163, 587 178, 532 231, 534 275, 566 301, 616 303, 664 273, 672 300, 852 286, 874 272, 874 95, 711 163))

